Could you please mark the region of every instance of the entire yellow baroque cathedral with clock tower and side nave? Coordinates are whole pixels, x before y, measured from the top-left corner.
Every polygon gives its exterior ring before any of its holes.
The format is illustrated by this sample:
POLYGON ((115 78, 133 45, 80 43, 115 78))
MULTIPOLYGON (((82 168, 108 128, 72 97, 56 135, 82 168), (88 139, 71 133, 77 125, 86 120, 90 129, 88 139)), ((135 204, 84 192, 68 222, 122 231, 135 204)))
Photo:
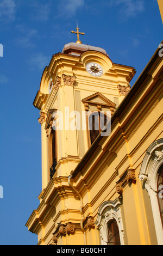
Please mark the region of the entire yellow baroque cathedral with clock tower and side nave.
MULTIPOLYGON (((79 39, 43 71, 37 245, 163 245, 163 59, 135 68, 79 39)), ((158 43, 158 45, 161 42, 158 43)))

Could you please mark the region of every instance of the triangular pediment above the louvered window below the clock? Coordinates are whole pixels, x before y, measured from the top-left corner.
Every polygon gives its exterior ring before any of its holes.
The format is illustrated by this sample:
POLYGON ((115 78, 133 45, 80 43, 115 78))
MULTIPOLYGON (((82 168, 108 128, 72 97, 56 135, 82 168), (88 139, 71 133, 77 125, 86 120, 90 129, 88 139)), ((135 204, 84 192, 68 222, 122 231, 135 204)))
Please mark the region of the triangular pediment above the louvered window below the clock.
POLYGON ((97 106, 97 105, 101 105, 101 106, 105 106, 105 107, 115 107, 116 106, 116 104, 114 102, 112 102, 111 100, 106 98, 101 93, 92 94, 92 95, 86 97, 85 99, 83 99, 82 102, 89 103, 89 105, 93 105, 93 106, 97 106))

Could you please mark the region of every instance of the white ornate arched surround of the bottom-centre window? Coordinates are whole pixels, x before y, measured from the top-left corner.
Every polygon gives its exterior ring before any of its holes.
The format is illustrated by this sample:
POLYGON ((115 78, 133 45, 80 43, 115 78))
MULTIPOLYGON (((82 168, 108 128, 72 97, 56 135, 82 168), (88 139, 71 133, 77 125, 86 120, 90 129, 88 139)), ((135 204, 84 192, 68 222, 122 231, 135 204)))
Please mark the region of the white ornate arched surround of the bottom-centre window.
POLYGON ((102 245, 107 245, 108 223, 111 220, 116 220, 120 232, 120 242, 121 245, 124 245, 124 231, 121 215, 121 204, 121 200, 116 198, 114 202, 104 202, 98 210, 98 216, 95 224, 97 225, 97 228, 100 231, 102 245))

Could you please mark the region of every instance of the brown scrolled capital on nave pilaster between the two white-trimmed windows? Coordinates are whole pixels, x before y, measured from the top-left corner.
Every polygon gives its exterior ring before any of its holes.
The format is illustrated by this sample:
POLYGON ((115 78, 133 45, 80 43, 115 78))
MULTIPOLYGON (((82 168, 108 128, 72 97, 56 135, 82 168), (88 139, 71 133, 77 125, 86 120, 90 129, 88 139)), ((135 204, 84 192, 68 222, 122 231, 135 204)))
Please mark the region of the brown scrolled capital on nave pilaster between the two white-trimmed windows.
POLYGON ((116 192, 118 194, 123 193, 123 187, 126 186, 129 182, 135 183, 136 182, 136 176, 135 176, 135 170, 129 169, 127 170, 123 176, 121 177, 118 182, 116 182, 116 192))

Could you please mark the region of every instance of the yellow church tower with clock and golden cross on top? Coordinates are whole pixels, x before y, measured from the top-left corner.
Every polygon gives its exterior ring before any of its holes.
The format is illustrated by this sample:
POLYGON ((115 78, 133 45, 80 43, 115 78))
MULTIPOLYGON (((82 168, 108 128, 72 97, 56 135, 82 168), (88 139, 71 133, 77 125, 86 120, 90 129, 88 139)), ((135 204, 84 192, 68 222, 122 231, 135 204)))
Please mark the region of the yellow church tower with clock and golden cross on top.
POLYGON ((133 67, 113 63, 103 48, 82 44, 84 33, 76 29, 77 42, 54 54, 43 71, 33 103, 40 111, 42 191, 26 225, 39 245, 56 239, 59 245, 85 244, 82 198, 68 178, 106 129, 135 75, 133 67))

